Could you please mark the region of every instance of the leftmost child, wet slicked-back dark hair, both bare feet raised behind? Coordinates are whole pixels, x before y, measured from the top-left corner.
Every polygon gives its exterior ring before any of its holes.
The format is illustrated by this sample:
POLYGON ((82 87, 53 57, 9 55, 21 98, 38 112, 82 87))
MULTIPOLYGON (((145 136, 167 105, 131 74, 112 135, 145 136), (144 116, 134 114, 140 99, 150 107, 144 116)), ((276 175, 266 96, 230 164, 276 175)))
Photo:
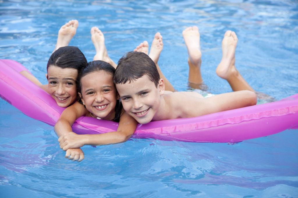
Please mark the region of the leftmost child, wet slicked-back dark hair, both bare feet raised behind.
MULTIPOLYGON (((75 102, 77 98, 75 81, 79 70, 87 64, 87 60, 79 48, 67 46, 74 37, 78 25, 77 20, 71 20, 61 26, 55 49, 47 63, 48 84, 41 84, 35 76, 26 70, 20 72, 48 92, 61 107, 68 107, 75 102)), ((92 27, 90 33, 96 50, 94 60, 104 60, 116 67, 116 64, 108 56, 103 33, 97 27, 92 27)))

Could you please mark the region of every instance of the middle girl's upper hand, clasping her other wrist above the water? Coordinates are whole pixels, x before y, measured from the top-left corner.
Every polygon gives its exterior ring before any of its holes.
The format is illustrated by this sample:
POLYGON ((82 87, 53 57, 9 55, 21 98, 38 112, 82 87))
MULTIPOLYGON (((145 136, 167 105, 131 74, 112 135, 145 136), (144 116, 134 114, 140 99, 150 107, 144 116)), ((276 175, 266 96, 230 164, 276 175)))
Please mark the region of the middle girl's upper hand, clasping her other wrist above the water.
POLYGON ((68 132, 60 136, 58 142, 60 142, 60 148, 66 151, 69 148, 80 148, 84 146, 83 137, 83 135, 78 135, 74 132, 68 132))

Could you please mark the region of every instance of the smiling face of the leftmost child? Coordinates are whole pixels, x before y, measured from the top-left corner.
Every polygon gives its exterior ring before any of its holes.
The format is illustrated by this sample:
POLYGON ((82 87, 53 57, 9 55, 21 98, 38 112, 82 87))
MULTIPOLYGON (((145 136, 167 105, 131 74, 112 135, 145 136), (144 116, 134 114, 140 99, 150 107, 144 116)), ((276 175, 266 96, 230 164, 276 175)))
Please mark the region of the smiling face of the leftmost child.
POLYGON ((73 68, 49 66, 47 73, 48 93, 54 98, 58 106, 68 107, 76 100, 75 81, 77 74, 77 70, 73 68))

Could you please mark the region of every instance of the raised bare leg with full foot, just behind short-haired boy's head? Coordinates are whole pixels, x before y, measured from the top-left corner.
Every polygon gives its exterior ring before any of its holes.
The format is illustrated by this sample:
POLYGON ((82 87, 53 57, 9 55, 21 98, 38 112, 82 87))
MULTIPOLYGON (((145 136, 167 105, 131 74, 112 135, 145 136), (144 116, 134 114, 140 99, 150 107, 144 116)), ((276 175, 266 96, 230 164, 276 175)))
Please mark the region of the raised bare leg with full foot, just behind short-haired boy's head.
POLYGON ((162 73, 162 70, 160 69, 159 65, 157 64, 158 59, 159 59, 159 55, 162 52, 163 47, 164 47, 164 44, 162 43, 162 35, 159 32, 157 32, 154 35, 154 39, 153 39, 152 44, 151 44, 151 48, 150 48, 150 52, 149 52, 149 57, 156 64, 156 67, 157 67, 157 70, 158 70, 158 73, 159 73, 160 78, 164 79, 165 90, 166 91, 174 92, 175 89, 174 89, 173 85, 164 76, 164 74, 162 73))

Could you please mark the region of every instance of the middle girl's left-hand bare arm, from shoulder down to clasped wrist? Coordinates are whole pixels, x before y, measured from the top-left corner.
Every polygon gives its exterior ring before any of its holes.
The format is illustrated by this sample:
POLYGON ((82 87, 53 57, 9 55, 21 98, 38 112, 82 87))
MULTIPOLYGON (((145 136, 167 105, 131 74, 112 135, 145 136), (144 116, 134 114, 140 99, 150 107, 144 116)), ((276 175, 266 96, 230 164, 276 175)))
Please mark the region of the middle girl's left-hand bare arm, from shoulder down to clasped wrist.
POLYGON ((72 125, 75 120, 87 113, 88 110, 79 102, 75 102, 73 105, 64 109, 54 127, 57 136, 60 137, 65 133, 72 132, 72 125))

